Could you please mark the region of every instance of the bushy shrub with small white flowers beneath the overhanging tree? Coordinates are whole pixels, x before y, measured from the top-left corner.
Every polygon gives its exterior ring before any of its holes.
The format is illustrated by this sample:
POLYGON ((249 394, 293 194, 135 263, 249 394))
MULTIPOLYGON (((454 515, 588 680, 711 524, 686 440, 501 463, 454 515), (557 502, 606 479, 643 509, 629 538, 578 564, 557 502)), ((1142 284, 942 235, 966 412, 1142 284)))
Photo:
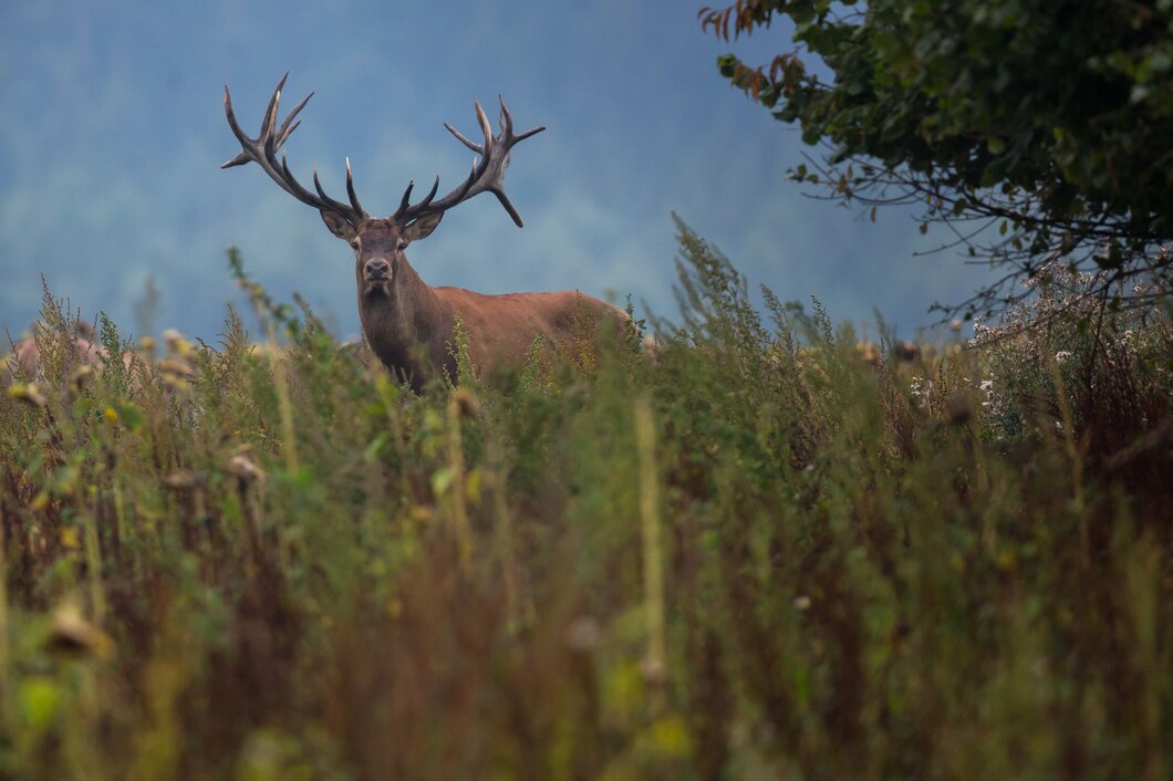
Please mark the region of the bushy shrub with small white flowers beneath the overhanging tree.
POLYGON ((1058 434, 1083 459, 1162 490, 1161 432, 1173 413, 1168 301, 1138 284, 1128 297, 1146 305, 1119 307, 1124 292, 1104 288, 1106 273, 1050 264, 1026 283, 1035 297, 996 326, 977 324, 985 423, 995 439, 1058 434), (1146 434, 1154 434, 1147 444, 1146 434))

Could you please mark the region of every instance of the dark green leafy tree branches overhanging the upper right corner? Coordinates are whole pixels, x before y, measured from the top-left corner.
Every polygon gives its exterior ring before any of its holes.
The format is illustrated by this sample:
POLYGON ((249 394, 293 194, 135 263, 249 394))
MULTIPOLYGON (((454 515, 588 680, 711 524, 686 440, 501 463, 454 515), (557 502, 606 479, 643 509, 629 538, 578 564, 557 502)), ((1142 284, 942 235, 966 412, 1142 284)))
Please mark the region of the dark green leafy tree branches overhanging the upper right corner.
POLYGON ((1105 291, 1159 283, 1123 300, 1167 293, 1173 0, 738 0, 699 19, 725 40, 793 23, 768 64, 719 59, 828 148, 791 178, 873 218, 921 204, 922 232, 943 223, 1005 272, 945 310, 988 311, 1055 259, 1107 270, 1105 291))

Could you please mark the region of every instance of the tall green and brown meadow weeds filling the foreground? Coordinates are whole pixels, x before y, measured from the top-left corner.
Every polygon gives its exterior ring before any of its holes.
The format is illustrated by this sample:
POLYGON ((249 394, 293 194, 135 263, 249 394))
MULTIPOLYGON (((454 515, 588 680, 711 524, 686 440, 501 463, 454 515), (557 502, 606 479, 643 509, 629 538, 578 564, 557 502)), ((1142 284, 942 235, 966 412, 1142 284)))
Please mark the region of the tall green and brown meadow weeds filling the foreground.
POLYGON ((1168 777, 1167 296, 1051 269, 873 366, 680 247, 655 360, 584 326, 421 396, 243 273, 266 346, 230 308, 190 373, 73 365, 47 293, 0 777, 1168 777))

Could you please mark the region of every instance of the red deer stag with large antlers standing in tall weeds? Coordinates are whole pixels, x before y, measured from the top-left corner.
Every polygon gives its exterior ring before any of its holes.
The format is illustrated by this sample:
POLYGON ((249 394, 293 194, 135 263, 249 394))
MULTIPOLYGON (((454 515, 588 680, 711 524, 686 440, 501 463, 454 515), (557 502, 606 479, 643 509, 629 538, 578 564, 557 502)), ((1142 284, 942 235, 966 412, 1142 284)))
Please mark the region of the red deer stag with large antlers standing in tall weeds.
POLYGON ((541 133, 534 128, 515 134, 513 117, 501 99, 501 131, 494 136, 489 120, 480 103, 474 101, 476 118, 484 134, 477 144, 445 124, 461 143, 479 155, 473 170, 456 189, 442 198, 438 176, 432 190, 418 203, 411 203, 413 183, 407 185, 399 209, 386 219, 371 217, 354 193, 350 159, 346 161, 346 193, 350 203, 326 195, 318 182, 317 167, 310 192, 290 174, 284 155, 277 152, 300 122, 293 118, 313 96, 306 96, 278 125, 278 106, 286 73, 277 82, 269 100, 269 108, 260 123, 260 135, 248 137, 232 113, 232 99, 224 86, 224 111, 229 127, 240 142, 242 151, 221 168, 244 165, 253 161, 291 196, 317 209, 326 227, 354 250, 354 276, 358 283, 359 320, 362 333, 374 354, 399 379, 408 381, 420 392, 423 383, 447 372, 456 376, 450 345, 455 344, 455 319, 459 317, 468 334, 469 355, 482 373, 495 367, 520 365, 534 340, 542 337, 554 344, 567 344, 574 335, 576 322, 588 314, 597 325, 604 321, 619 324, 628 315, 618 307, 574 291, 557 293, 508 293, 484 296, 461 287, 430 287, 412 269, 404 254, 408 244, 430 236, 445 212, 481 192, 491 192, 504 206, 514 223, 522 226, 517 210, 504 191, 509 151, 514 145, 541 133))

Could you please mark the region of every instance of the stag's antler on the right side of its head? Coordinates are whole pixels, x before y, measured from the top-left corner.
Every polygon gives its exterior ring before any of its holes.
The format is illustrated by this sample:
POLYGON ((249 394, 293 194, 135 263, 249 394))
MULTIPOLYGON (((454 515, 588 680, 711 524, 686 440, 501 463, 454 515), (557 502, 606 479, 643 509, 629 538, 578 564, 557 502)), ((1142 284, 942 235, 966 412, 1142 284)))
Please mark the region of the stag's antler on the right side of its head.
POLYGON ((412 188, 415 186, 415 183, 408 183, 407 190, 404 191, 404 197, 399 203, 399 209, 391 216, 392 222, 399 225, 407 225, 423 215, 447 211, 475 195, 488 191, 497 197, 497 201, 501 202, 501 205, 513 217, 517 227, 522 226, 521 215, 517 213, 517 210, 509 202, 509 196, 506 195, 504 190, 506 170, 509 168, 509 150, 526 138, 545 130, 545 128, 537 127, 515 135, 513 130, 513 116, 510 116, 509 109, 506 107, 506 101, 500 95, 497 100, 501 101, 501 133, 496 136, 493 135, 493 128, 489 125, 489 118, 484 115, 484 109, 481 108, 479 102, 473 101, 473 106, 476 108, 476 121, 481 125, 481 133, 484 134, 483 144, 473 143, 461 135, 459 130, 445 122, 443 127, 452 135, 456 136, 462 144, 480 155, 480 159, 473 161, 473 170, 469 172, 468 178, 455 190, 436 201, 436 190, 440 188, 440 177, 436 176, 432 190, 416 204, 411 203, 412 188))

